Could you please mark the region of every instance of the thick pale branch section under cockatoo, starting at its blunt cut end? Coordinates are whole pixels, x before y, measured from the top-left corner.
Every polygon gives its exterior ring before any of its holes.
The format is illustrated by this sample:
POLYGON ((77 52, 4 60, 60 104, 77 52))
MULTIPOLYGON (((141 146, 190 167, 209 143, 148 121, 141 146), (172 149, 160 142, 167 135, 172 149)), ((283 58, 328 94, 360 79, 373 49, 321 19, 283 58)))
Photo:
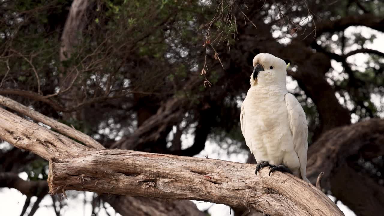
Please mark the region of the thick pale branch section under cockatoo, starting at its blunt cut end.
POLYGON ((248 207, 271 215, 343 215, 321 191, 281 172, 229 161, 130 150, 50 161, 52 194, 92 191, 162 199, 194 199, 248 207), (300 195, 299 195, 300 194, 300 195))

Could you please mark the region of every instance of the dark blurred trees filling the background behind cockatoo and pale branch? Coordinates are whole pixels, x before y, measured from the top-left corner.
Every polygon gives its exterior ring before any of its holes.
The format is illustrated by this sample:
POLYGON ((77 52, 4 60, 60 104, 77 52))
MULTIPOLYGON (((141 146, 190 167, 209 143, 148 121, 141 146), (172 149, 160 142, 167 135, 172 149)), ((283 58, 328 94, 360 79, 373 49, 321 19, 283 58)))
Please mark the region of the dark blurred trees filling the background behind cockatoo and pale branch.
MULTIPOLYGON (((356 215, 379 215, 383 14, 378 0, 0 0, 0 94, 106 148, 183 156, 217 148, 254 163, 240 105, 253 57, 271 53, 291 63, 288 88, 307 113, 308 178, 325 170, 325 193, 356 215)), ((48 192, 47 162, 2 143, 0 165, 0 187, 25 194, 18 212, 33 215, 48 192)), ((52 200, 63 215, 68 202, 52 200)), ((91 214, 108 204, 121 215, 204 214, 189 201, 89 202, 91 214)))

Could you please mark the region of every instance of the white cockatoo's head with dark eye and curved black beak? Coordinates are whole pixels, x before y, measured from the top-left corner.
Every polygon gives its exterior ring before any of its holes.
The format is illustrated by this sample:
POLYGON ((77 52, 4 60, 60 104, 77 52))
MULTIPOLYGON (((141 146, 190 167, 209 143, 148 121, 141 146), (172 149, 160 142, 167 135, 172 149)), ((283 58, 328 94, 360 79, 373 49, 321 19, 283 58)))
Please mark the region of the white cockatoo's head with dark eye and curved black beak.
POLYGON ((284 60, 269 53, 259 53, 252 63, 251 86, 285 85, 288 66, 284 60))

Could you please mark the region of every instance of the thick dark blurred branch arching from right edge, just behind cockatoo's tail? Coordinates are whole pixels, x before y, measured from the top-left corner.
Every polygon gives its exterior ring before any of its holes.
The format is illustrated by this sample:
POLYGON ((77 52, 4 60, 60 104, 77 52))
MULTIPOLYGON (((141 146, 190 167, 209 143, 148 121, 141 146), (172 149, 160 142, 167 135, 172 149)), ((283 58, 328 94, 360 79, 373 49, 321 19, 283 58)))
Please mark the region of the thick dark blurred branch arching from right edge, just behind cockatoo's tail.
POLYGON ((338 167, 346 163, 349 156, 360 153, 370 159, 383 155, 382 143, 382 119, 370 119, 330 130, 308 148, 307 177, 315 183, 319 172, 324 171, 322 186, 329 189, 331 174, 337 172, 338 167))

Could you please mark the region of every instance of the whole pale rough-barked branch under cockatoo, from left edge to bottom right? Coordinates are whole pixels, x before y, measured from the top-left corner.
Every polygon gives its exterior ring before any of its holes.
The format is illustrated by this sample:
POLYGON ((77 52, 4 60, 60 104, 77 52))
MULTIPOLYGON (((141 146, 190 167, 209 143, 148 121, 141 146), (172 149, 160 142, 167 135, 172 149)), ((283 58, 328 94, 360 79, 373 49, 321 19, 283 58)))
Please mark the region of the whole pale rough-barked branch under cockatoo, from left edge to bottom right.
MULTIPOLYGON (((71 189, 76 182, 77 185, 84 183, 82 187, 89 191, 92 191, 88 188, 90 185, 99 188, 97 193, 209 200, 274 215, 343 215, 314 186, 279 172, 267 176, 266 169, 255 176, 254 166, 250 164, 129 150, 93 150, 1 108, 0 125, 3 140, 46 160, 66 161, 51 163, 52 173, 60 173, 63 170, 60 165, 77 161, 78 175, 68 179, 66 189, 71 189), (87 163, 94 169, 80 171, 87 163), (89 175, 99 179, 88 181, 89 175), (314 199, 318 204, 313 204, 314 199)), ((52 185, 60 184, 53 176, 50 175, 52 185)))

